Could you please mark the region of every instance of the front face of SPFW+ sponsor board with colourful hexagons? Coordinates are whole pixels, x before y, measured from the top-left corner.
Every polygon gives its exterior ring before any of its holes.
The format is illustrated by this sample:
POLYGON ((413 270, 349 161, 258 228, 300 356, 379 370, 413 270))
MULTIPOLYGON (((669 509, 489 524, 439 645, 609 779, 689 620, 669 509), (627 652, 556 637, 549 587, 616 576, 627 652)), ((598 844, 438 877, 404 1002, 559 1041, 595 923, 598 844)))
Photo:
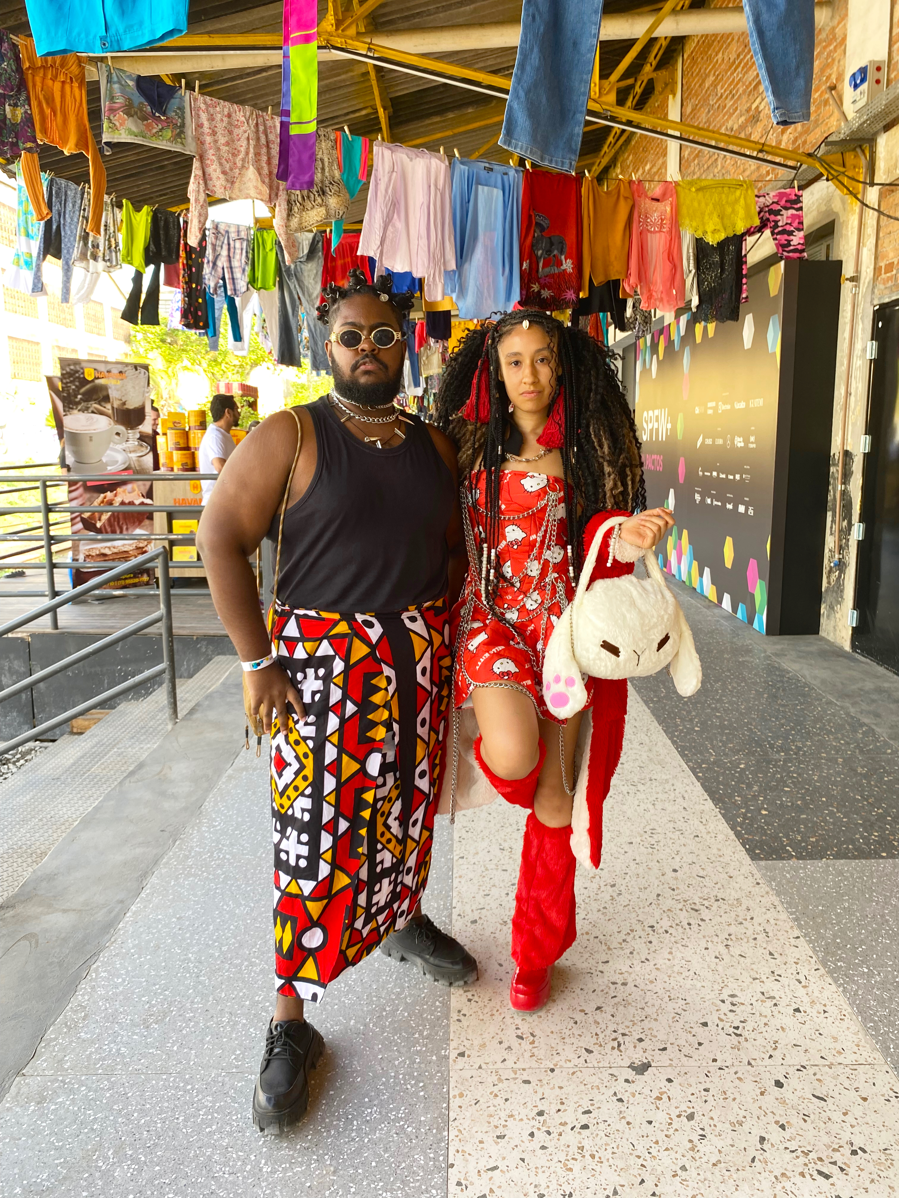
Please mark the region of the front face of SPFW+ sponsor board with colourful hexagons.
POLYGON ((650 507, 675 527, 659 564, 766 628, 783 270, 749 278, 740 320, 687 314, 636 345, 636 428, 650 507))

